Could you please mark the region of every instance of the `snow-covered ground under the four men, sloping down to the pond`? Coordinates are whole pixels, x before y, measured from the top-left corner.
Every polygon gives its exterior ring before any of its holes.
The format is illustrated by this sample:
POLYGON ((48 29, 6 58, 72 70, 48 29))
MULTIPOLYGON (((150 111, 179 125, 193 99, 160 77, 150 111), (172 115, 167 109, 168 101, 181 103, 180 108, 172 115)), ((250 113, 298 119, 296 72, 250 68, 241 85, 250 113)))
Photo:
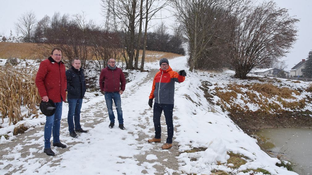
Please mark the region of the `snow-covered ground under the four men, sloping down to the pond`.
MULTIPOLYGON (((186 61, 186 56, 178 57, 169 60, 169 64, 175 71, 188 70, 186 61)), ((24 122, 35 127, 25 134, 11 135, 9 140, 1 137, 0 174, 211 174, 220 170, 230 174, 249 175, 249 172, 242 171, 257 168, 265 169, 272 175, 297 174, 275 166, 275 163, 280 162, 277 158, 271 158, 263 152, 257 141, 237 127, 227 116, 227 112, 222 112, 220 106, 211 104, 204 98, 203 90, 198 88, 203 81, 211 83, 209 88, 213 89, 216 83, 221 86, 233 81, 233 78, 229 78, 234 74, 232 71, 187 71, 185 82, 176 83, 173 148, 160 149, 166 140, 165 128, 161 144, 147 143, 147 139, 154 136, 153 110, 148 106, 148 98, 159 64, 155 62, 145 65, 151 71, 129 72, 132 81, 126 84, 126 90, 122 94, 126 130, 120 130, 117 126, 108 128, 110 121, 104 96, 99 92, 88 92, 88 100, 84 100, 81 113, 82 128, 89 130, 88 133, 81 133, 77 138, 69 136, 66 120, 68 104, 63 103, 60 139, 68 148, 52 147, 56 156, 50 157, 43 153, 42 123, 45 122, 45 116, 26 119, 24 122), (95 93, 100 96, 95 96, 95 93), (204 149, 188 152, 200 147, 204 149), (174 149, 178 150, 178 154, 172 154, 174 149), (236 169, 231 168, 233 165, 227 164, 230 152, 244 155, 247 163, 236 169), (164 154, 159 156, 157 153, 164 154), (178 167, 168 166, 168 161, 174 161, 172 158, 178 162, 178 167), (156 168, 159 166, 163 166, 163 172, 156 168)), ((214 101, 217 100, 218 97, 214 96, 214 101)), ((0 134, 14 128, 6 123, 0 126, 3 127, 0 134)))

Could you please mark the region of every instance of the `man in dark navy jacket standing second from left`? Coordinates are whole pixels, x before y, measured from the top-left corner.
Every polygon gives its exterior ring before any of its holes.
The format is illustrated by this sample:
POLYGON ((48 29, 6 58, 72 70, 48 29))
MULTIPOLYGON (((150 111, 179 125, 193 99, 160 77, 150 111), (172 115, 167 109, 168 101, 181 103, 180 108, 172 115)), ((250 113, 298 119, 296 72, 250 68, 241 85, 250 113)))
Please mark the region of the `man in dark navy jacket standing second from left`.
POLYGON ((80 125, 80 109, 82 105, 82 98, 85 96, 85 75, 83 73, 83 69, 81 69, 81 61, 79 58, 75 58, 73 60, 71 69, 66 71, 66 78, 68 130, 71 137, 77 137, 76 132, 88 132, 87 130, 83 130, 80 125))

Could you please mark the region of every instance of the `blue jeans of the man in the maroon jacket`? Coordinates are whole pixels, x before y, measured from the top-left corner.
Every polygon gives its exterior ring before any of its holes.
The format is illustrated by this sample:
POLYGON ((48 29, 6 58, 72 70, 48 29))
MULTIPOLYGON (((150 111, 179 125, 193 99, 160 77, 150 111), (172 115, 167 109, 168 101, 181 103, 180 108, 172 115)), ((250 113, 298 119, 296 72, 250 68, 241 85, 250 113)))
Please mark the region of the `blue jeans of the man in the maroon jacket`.
POLYGON ((108 116, 110 118, 110 123, 115 123, 115 115, 113 112, 113 100, 114 100, 117 111, 118 123, 124 124, 124 119, 122 118, 121 98, 119 92, 105 92, 104 97, 108 110, 108 116))

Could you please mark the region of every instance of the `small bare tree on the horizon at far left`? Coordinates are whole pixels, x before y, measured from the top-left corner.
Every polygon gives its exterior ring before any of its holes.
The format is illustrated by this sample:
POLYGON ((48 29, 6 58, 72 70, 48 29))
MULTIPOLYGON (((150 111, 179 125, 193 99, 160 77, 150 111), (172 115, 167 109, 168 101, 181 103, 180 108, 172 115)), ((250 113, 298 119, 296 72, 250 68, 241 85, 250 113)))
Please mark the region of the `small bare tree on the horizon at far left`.
POLYGON ((27 11, 19 16, 17 21, 15 23, 16 28, 22 33, 26 41, 30 41, 32 31, 35 29, 37 22, 35 13, 27 11))

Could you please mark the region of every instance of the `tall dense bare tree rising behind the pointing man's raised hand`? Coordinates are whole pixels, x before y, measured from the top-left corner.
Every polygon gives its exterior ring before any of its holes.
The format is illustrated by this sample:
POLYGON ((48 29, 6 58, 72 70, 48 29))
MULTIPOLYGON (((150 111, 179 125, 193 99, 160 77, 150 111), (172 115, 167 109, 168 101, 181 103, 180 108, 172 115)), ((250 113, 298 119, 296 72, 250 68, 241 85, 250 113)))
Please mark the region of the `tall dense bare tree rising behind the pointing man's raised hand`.
POLYGON ((207 58, 208 51, 213 48, 212 40, 237 1, 173 0, 174 16, 189 44, 190 71, 200 68, 199 60, 207 58))

